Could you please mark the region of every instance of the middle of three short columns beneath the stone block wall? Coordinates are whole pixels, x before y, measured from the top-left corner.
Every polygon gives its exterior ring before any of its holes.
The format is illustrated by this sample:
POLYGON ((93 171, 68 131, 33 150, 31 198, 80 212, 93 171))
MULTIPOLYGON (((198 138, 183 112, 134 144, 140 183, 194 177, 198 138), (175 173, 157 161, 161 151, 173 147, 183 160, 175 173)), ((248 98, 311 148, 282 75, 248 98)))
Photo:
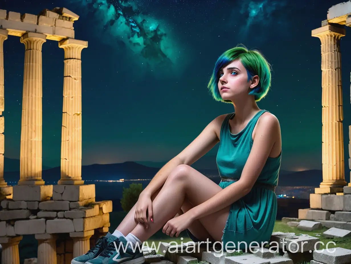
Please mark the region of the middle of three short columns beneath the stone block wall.
POLYGON ((56 236, 52 234, 36 234, 38 240, 38 264, 57 264, 56 236))

